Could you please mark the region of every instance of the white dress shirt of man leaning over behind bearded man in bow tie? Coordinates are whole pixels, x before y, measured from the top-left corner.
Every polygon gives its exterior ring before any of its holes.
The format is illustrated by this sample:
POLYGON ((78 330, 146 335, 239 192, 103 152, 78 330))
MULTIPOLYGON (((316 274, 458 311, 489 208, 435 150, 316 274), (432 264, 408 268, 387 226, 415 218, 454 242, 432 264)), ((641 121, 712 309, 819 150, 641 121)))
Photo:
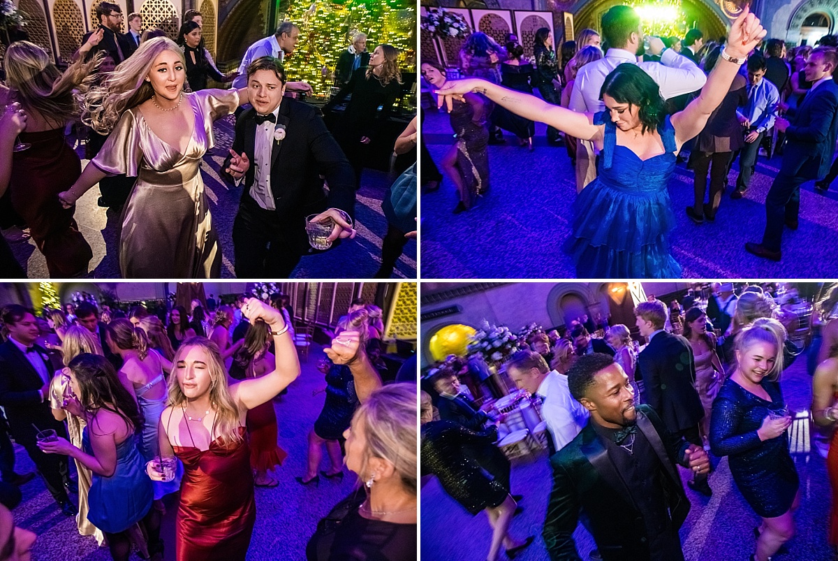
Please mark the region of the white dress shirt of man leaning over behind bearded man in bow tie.
POLYGON ((567 377, 555 370, 547 373, 535 393, 544 398, 541 417, 547 423, 557 452, 585 428, 589 413, 571 395, 567 377))

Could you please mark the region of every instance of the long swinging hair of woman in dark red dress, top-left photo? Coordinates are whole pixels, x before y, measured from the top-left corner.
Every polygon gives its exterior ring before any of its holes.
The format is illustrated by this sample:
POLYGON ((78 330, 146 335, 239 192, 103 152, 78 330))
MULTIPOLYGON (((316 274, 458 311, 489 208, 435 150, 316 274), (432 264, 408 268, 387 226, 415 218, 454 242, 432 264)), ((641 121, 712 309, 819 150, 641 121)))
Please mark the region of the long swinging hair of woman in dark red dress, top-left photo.
POLYGON ((91 75, 100 61, 101 55, 87 62, 80 58, 62 74, 44 49, 18 41, 6 51, 6 83, 23 109, 60 127, 81 116, 83 95, 91 86, 91 75))

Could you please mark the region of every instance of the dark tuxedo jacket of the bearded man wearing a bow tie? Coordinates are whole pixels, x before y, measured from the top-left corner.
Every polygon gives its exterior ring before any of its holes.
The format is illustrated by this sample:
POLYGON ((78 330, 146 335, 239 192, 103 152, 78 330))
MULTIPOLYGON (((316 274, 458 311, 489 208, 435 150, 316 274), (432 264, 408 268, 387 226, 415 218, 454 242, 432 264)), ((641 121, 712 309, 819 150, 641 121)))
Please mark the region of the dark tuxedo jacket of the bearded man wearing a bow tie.
MULTIPOLYGON (((690 511, 690 501, 675 464, 686 465, 684 452, 688 444, 675 439, 647 405, 637 408, 637 424, 664 466, 665 476, 660 481, 665 486, 672 525, 679 528, 690 511)), ((605 561, 649 558, 643 517, 592 420, 551 456, 550 464, 553 486, 542 535, 551 559, 581 559, 573 541, 580 507, 590 520, 593 538, 605 561)))

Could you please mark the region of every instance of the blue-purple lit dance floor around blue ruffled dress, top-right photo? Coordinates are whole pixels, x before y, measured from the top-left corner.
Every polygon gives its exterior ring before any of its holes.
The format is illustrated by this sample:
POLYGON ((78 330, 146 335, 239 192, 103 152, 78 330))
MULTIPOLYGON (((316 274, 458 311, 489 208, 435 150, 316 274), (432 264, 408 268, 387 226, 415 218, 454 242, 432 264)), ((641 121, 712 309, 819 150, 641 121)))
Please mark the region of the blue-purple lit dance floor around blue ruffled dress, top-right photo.
MULTIPOLYGON (((422 195, 422 278, 575 278, 562 245, 571 234, 576 186, 564 147, 546 145, 546 127, 535 125, 535 151, 506 144, 489 146, 489 193, 472 210, 454 215, 457 194, 450 179, 422 195)), ((447 114, 431 109, 423 125, 437 165, 453 143, 447 114)), ((692 171, 679 164, 670 179, 677 218, 671 242, 684 278, 829 278, 838 268, 838 191, 817 195, 814 182, 801 193, 798 231, 785 230, 783 261, 769 262, 745 252, 760 242, 765 195, 781 157, 760 156, 747 195, 732 200, 728 187, 715 222, 696 226, 685 214, 692 205, 692 171)), ((733 185, 738 164, 728 183, 733 185)), ((835 189, 835 187, 833 188, 835 189)), ((625 233, 630 236, 630 232, 625 233)))

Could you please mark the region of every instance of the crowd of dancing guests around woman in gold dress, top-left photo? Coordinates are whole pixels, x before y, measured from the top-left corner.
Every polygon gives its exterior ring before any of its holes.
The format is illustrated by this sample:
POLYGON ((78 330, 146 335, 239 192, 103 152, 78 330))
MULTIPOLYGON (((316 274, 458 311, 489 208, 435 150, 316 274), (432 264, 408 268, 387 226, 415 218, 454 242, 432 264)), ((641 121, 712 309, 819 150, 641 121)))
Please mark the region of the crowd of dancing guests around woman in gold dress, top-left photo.
MULTIPOLYGON (((235 113, 235 138, 220 176, 242 188, 231 259, 239 277, 287 278, 315 252, 308 224, 325 228, 325 249, 354 238, 356 191, 374 151, 415 153, 415 120, 395 146, 385 138, 402 93, 399 51, 389 44, 367 53, 366 35, 354 34, 336 69, 342 87, 317 109, 303 99, 312 87, 292 81, 283 65, 299 40, 294 23, 281 23, 247 49, 238 70, 222 73, 195 10, 184 13, 176 38, 143 32, 139 13, 128 15, 122 34, 122 8, 113 3, 98 3, 96 18, 99 27, 63 71, 25 40, 8 45, 3 59, 0 226, 10 240, 34 240, 50 277, 89 273, 93 252, 74 213, 98 184, 98 204, 122 213, 123 278, 218 278, 222 256, 200 167, 226 115, 235 113), (232 87, 208 89, 210 80, 232 87), (322 115, 342 103, 333 136, 322 115), (71 144, 85 135, 91 162, 82 170, 71 144)), ((416 230, 415 166, 401 160, 396 171, 404 173, 382 204, 389 227, 381 278, 391 277, 416 230)), ((26 276, 5 238, 0 263, 26 276)))

